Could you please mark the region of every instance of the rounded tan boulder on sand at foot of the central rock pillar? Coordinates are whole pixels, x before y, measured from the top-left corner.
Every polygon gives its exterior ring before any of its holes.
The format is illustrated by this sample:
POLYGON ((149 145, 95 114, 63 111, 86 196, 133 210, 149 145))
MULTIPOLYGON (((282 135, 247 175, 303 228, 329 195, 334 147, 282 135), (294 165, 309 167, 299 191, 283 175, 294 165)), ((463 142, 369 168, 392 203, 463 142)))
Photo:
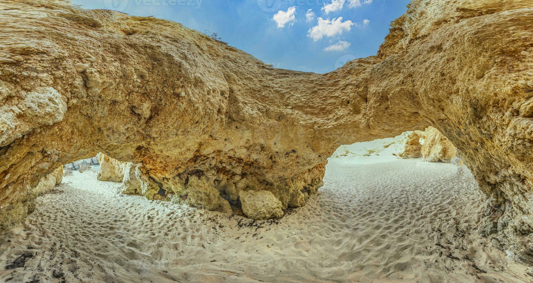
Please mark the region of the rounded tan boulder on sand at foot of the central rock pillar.
POLYGON ((281 202, 268 190, 246 190, 239 193, 244 214, 254 220, 281 217, 281 202))

